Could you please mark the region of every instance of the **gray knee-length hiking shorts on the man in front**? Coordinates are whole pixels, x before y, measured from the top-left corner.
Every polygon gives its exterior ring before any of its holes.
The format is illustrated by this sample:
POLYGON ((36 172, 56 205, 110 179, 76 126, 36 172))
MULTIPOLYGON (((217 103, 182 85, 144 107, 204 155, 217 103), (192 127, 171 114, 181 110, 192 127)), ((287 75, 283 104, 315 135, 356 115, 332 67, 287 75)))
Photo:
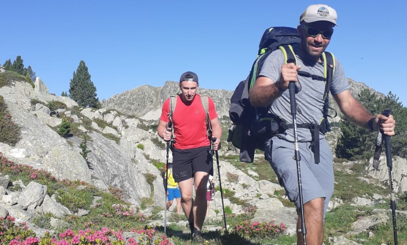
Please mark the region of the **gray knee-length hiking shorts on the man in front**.
MULTIPOLYGON (((315 198, 325 198, 325 214, 334 190, 333 156, 325 139, 320 140, 319 143, 321 162, 317 164, 314 161, 311 142, 298 142, 301 157, 302 199, 305 204, 315 198)), ((274 172, 276 172, 278 181, 284 187, 289 200, 295 202, 295 206, 299 210, 297 164, 293 156, 293 142, 288 142, 277 137, 267 141, 265 159, 269 161, 274 172)))

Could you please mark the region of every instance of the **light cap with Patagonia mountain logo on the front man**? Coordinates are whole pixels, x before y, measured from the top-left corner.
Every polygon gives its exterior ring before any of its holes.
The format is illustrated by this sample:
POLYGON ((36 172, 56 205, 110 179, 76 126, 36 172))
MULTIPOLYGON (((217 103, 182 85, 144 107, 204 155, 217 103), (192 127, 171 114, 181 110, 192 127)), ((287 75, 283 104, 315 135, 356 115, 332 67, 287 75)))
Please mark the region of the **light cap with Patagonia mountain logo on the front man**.
POLYGON ((329 21, 336 24, 337 14, 335 9, 326 4, 313 4, 308 6, 300 16, 300 23, 302 21, 311 23, 315 21, 329 21))

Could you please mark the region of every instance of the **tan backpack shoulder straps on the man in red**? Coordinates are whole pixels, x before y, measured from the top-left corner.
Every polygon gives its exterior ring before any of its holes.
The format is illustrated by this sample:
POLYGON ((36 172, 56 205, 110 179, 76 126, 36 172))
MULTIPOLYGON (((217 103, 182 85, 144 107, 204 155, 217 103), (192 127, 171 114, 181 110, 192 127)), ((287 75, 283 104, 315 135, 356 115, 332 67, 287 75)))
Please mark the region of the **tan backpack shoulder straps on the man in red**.
MULTIPOLYGON (((175 134, 174 134, 174 127, 173 127, 173 115, 174 115, 174 110, 175 110, 175 106, 177 105, 177 97, 178 95, 171 95, 170 96, 170 108, 168 111, 168 125, 167 127, 172 129, 171 132, 171 150, 173 149, 173 145, 175 143, 175 134)), ((209 117, 209 99, 208 99, 208 95, 199 95, 199 97, 201 97, 201 103, 202 106, 204 107, 205 110, 205 114, 206 114, 206 119, 205 119, 205 123, 206 123, 206 135, 209 138, 209 141, 212 138, 212 125, 210 124, 210 117, 209 117)))

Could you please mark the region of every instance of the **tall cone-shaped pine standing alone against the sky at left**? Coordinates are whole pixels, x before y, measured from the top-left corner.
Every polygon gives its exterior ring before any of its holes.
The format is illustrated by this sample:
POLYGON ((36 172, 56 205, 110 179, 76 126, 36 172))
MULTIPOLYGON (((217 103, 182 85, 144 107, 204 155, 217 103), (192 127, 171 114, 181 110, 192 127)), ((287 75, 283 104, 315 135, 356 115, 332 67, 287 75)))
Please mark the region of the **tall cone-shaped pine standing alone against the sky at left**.
POLYGON ((73 73, 69 86, 69 96, 76 101, 79 106, 100 107, 99 99, 96 97, 96 87, 90 80, 88 67, 86 67, 83 60, 79 62, 77 71, 73 73))

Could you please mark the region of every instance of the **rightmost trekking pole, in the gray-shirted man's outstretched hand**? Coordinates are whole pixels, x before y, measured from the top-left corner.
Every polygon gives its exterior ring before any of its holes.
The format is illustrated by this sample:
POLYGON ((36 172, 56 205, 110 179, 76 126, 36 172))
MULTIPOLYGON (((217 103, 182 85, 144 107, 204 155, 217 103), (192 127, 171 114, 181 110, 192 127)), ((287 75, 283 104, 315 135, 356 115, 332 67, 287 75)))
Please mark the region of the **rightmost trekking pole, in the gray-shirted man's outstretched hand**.
MULTIPOLYGON (((392 114, 391 110, 385 110, 382 113, 384 116, 389 117, 392 114)), ((379 126, 380 128, 380 126, 379 126)), ((397 225, 396 225, 396 198, 394 195, 394 188, 393 188, 393 162, 392 162, 392 142, 389 135, 385 135, 383 131, 385 148, 386 148, 386 160, 387 160, 387 167, 389 168, 389 183, 390 183, 390 207, 392 208, 392 219, 393 219, 393 235, 394 235, 394 245, 398 245, 397 243, 397 225)))

